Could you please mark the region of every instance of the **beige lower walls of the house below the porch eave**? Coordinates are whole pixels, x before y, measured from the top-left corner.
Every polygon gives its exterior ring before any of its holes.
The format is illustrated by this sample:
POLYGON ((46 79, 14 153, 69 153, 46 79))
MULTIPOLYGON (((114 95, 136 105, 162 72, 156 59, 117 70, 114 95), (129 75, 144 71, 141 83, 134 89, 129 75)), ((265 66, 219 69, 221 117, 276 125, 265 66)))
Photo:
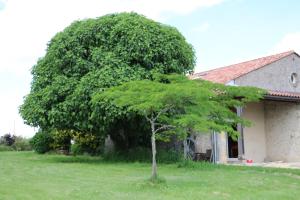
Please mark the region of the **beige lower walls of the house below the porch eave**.
MULTIPOLYGON (((300 104, 295 102, 261 101, 243 108, 242 117, 251 121, 243 128, 243 158, 255 163, 266 161, 300 162, 300 104)), ((228 137, 217 135, 218 162, 228 158, 228 137)), ((212 149, 210 134, 199 134, 196 152, 212 149)))

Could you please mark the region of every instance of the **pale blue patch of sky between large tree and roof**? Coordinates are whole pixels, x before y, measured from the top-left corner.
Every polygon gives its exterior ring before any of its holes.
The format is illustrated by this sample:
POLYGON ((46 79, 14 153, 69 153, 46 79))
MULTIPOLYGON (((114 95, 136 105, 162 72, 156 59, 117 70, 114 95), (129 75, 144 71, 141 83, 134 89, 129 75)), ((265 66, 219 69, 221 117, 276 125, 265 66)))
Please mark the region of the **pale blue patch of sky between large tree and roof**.
POLYGON ((197 71, 202 71, 284 51, 285 48, 276 49, 276 45, 288 34, 299 34, 299 11, 297 0, 228 0, 184 17, 174 17, 168 23, 193 44, 197 71), (204 24, 206 28, 201 29, 204 24))

